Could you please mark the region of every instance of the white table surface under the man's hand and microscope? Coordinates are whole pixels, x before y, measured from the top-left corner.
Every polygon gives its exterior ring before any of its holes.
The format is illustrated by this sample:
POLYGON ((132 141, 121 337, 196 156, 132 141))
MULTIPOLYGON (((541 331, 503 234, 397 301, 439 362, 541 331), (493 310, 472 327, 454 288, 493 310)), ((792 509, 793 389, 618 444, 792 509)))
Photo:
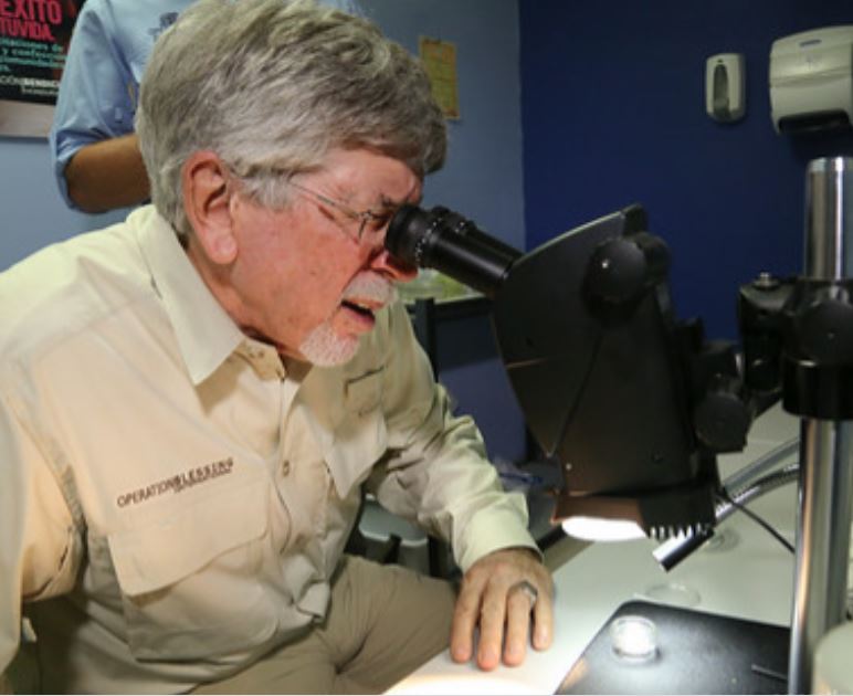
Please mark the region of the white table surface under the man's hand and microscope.
MULTIPOLYGON (((799 420, 775 407, 758 419, 744 452, 719 457, 720 476, 798 433, 799 420)), ((755 500, 750 509, 793 542, 796 504, 796 486, 789 485, 755 500)), ((729 517, 712 541, 670 572, 652 557, 655 547, 649 539, 585 545, 567 538, 546 553, 556 588, 555 639, 548 651, 530 650, 523 665, 489 673, 455 664, 444 652, 389 693, 554 693, 610 615, 632 599, 790 625, 793 556, 747 516, 729 517)))

